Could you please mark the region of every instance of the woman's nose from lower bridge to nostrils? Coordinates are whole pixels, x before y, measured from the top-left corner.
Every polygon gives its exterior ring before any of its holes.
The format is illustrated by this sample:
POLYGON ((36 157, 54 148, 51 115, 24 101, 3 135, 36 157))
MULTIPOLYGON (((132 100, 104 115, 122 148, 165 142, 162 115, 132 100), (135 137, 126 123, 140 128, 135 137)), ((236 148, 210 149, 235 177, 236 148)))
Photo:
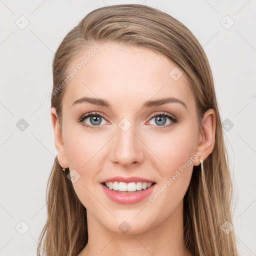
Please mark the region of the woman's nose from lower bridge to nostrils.
POLYGON ((143 139, 139 139, 139 136, 134 125, 131 125, 126 131, 116 126, 116 135, 111 143, 109 153, 111 162, 125 167, 140 164, 144 159, 144 145, 140 141, 143 139))

